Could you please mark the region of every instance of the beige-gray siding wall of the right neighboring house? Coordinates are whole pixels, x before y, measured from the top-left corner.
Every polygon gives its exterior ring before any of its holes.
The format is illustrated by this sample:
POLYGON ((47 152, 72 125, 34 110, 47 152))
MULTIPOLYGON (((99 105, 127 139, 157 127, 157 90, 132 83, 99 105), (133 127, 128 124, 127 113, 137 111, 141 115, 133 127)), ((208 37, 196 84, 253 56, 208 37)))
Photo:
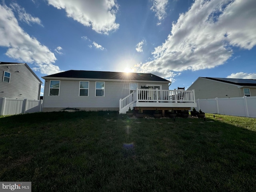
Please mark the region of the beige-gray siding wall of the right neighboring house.
POLYGON ((227 97, 241 97, 240 88, 236 85, 230 85, 213 80, 198 78, 188 90, 195 90, 196 99, 210 99, 210 98, 227 98, 227 97))

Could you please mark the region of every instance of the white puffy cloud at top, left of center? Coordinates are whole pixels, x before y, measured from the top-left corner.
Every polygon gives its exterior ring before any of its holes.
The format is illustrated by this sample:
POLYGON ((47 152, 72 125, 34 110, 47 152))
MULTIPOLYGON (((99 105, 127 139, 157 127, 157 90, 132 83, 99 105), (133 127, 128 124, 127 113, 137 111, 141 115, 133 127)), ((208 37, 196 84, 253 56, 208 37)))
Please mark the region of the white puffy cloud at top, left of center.
POLYGON ((108 34, 119 28, 116 21, 116 0, 48 0, 58 9, 65 9, 67 16, 92 30, 108 34))

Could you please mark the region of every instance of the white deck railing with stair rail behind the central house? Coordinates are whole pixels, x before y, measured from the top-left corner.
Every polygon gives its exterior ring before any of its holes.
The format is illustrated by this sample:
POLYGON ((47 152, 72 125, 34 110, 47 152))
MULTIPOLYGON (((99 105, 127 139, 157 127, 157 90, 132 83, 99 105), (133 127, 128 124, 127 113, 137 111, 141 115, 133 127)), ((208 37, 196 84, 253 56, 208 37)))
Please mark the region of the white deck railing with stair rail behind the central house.
MULTIPOLYGON (((120 99, 119 110, 131 106, 139 102, 167 102, 167 103, 195 103, 194 90, 192 91, 181 91, 181 90, 148 90, 148 89, 138 89, 123 99, 120 99)), ((150 106, 150 103, 148 104, 150 106)), ((168 106, 168 104, 166 105, 168 106)), ((184 106, 184 105, 183 105, 184 106)))

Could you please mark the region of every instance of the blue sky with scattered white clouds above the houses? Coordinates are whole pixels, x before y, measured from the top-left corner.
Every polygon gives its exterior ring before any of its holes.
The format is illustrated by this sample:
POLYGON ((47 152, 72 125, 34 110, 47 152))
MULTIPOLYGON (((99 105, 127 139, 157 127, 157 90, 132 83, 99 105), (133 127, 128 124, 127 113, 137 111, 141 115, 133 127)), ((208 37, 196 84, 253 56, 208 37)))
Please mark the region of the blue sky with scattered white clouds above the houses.
MULTIPOLYGON (((0 61, 67 70, 256 79, 255 0, 0 0, 0 61)), ((41 95, 43 94, 42 85, 41 95)))

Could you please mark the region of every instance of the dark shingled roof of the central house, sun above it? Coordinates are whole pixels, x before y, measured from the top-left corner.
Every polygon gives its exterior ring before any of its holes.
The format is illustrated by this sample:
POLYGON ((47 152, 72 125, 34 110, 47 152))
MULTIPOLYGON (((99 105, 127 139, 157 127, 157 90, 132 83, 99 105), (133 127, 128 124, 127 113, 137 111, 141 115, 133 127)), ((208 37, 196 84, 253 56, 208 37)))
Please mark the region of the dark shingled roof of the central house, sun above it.
POLYGON ((106 72, 106 71, 83 71, 83 70, 69 70, 60 72, 45 77, 57 78, 89 78, 89 79, 114 79, 114 80, 142 80, 142 81, 165 81, 170 82, 164 78, 158 77, 151 73, 129 73, 124 72, 106 72))

